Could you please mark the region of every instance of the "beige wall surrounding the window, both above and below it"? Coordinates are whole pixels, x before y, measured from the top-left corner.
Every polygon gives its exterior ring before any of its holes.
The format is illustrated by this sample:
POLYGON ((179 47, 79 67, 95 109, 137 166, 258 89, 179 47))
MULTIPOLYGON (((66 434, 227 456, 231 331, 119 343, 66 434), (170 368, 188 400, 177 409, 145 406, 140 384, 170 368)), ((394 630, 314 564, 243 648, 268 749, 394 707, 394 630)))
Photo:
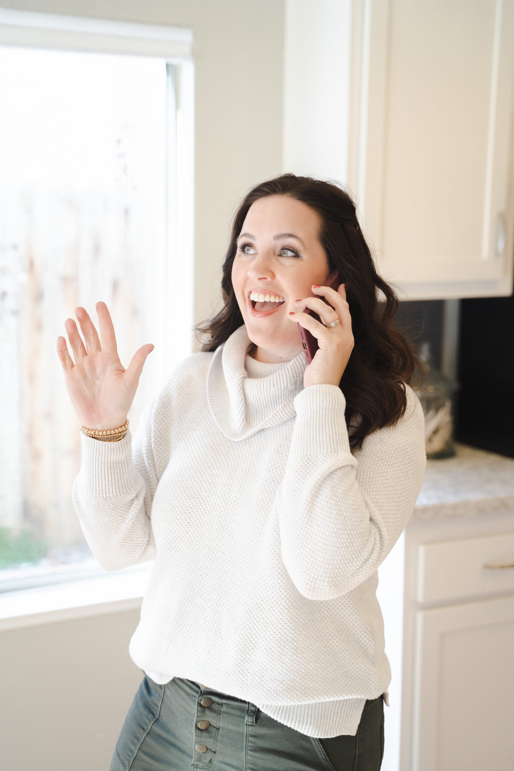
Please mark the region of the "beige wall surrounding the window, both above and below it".
MULTIPOLYGON (((237 200, 281 172, 283 0, 24 0, 20 10, 179 24, 195 34, 195 322, 220 300, 237 200)), ((0 634, 2 766, 107 771, 142 677, 136 612, 0 634)))

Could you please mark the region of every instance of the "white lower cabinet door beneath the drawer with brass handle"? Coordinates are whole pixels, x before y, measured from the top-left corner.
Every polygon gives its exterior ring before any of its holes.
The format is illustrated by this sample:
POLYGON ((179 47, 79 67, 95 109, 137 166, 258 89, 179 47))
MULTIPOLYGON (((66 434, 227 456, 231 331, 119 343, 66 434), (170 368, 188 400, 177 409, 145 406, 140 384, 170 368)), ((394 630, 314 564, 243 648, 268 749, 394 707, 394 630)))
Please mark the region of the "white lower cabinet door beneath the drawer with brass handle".
POLYGON ((412 771, 514 769, 514 597, 416 614, 412 771))

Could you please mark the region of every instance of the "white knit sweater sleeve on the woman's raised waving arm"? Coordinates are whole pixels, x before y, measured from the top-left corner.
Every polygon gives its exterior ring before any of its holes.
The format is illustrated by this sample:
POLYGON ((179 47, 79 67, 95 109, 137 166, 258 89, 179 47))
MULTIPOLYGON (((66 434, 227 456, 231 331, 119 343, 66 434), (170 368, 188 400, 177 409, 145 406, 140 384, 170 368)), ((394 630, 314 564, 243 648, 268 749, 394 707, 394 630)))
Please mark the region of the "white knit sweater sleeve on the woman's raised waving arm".
POLYGON ((153 453, 153 403, 134 442, 82 435, 82 463, 72 499, 92 553, 107 571, 152 560, 151 509, 158 476, 153 453))

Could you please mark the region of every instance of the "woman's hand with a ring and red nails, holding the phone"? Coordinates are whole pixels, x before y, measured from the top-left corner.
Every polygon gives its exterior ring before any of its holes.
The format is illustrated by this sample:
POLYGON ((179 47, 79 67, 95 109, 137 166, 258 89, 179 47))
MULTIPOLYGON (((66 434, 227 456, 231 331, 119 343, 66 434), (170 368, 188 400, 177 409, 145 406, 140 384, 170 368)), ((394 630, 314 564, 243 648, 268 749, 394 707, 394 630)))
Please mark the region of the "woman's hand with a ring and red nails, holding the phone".
POLYGON ((354 347, 354 336, 351 332, 351 315, 346 301, 346 287, 340 284, 338 291, 330 287, 312 287, 314 295, 320 297, 307 297, 297 300, 296 313, 291 313, 292 322, 300 324, 308 329, 315 338, 319 348, 314 355, 311 364, 307 365, 304 374, 304 387, 307 385, 339 385, 344 369, 348 364, 354 347), (321 297, 327 299, 327 305, 321 297), (311 308, 321 318, 318 322, 315 318, 304 313, 305 308, 311 308), (339 319, 339 324, 327 328, 326 324, 339 319))

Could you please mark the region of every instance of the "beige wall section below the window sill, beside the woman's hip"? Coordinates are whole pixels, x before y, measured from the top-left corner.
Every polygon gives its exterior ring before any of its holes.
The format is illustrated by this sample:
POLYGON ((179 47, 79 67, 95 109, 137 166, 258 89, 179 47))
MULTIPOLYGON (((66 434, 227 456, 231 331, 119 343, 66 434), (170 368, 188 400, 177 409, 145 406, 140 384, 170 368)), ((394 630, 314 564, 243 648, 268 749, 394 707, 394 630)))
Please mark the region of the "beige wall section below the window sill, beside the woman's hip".
POLYGON ((139 611, 0 634, 0 766, 107 771, 143 674, 129 657, 139 611))

